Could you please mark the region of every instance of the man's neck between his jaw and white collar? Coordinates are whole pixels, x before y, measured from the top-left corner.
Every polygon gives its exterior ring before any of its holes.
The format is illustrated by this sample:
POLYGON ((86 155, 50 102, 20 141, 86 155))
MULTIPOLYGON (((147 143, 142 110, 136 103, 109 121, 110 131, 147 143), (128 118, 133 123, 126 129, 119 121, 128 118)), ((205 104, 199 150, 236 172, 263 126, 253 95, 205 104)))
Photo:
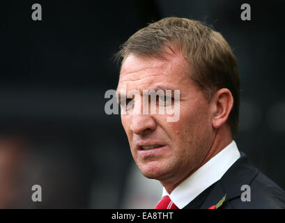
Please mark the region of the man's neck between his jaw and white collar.
POLYGON ((203 166, 203 164, 206 164, 212 157, 217 155, 220 151, 222 151, 226 146, 228 146, 231 141, 232 141, 232 136, 231 136, 231 130, 228 128, 228 126, 223 125, 221 128, 217 129, 215 132, 215 135, 213 137, 213 143, 208 149, 208 152, 206 153, 205 157, 201 160, 200 164, 192 169, 190 173, 188 173, 184 178, 176 181, 176 183, 162 183, 164 188, 167 190, 169 194, 178 186, 180 183, 182 183, 184 180, 189 178, 192 174, 194 174, 197 169, 203 166))

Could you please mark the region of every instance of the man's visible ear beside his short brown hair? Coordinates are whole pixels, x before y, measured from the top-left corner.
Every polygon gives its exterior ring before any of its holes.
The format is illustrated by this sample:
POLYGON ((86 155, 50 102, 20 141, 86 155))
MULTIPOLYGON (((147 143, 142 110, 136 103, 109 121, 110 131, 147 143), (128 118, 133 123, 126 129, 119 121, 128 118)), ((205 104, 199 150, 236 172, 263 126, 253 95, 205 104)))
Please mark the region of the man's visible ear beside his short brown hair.
POLYGON ((219 89, 219 91, 213 95, 210 103, 213 112, 213 128, 220 128, 226 123, 233 108, 233 95, 231 95, 229 89, 219 89))

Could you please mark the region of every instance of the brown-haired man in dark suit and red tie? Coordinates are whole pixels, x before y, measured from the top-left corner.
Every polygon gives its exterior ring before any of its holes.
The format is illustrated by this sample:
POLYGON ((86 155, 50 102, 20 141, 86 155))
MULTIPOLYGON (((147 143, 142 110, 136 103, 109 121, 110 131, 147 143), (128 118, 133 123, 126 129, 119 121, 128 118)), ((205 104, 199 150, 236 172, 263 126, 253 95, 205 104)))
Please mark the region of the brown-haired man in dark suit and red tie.
POLYGON ((285 207, 284 191, 233 141, 240 80, 220 33, 198 21, 168 17, 134 33, 117 56, 123 58, 118 101, 122 109, 132 109, 121 121, 141 173, 163 185, 157 208, 285 207), (173 96, 157 97, 178 107, 178 121, 167 121, 173 114, 142 112, 145 90, 179 90, 178 105, 173 96))

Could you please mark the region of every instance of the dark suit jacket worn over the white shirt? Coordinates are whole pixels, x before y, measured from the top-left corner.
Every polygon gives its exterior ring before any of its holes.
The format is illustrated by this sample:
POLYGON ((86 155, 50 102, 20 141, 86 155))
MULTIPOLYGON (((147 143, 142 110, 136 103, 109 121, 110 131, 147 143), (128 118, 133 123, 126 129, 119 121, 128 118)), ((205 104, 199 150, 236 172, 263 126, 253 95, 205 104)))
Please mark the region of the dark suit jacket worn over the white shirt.
MULTIPOLYGON (((248 192, 249 190, 247 190, 248 192)), ((254 167, 244 153, 216 183, 204 190, 183 209, 208 209, 226 194, 220 209, 285 208, 285 192, 254 167), (242 185, 250 187, 250 201, 242 201, 242 185)), ((248 197, 247 197, 248 198, 248 197)))

